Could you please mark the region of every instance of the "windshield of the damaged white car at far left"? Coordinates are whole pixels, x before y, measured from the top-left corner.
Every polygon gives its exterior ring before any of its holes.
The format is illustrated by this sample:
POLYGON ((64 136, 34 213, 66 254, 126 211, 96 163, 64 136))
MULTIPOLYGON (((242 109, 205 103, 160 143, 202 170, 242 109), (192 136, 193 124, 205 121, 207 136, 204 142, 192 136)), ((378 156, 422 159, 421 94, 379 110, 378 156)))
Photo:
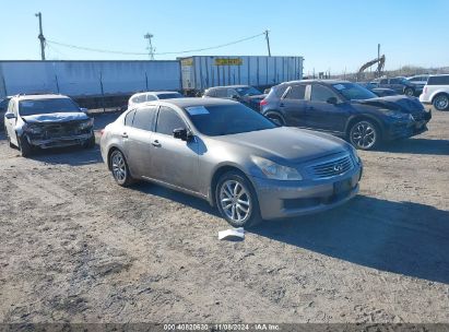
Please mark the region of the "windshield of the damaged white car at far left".
POLYGON ((19 114, 21 116, 73 111, 80 111, 80 108, 70 98, 34 99, 19 102, 19 114))

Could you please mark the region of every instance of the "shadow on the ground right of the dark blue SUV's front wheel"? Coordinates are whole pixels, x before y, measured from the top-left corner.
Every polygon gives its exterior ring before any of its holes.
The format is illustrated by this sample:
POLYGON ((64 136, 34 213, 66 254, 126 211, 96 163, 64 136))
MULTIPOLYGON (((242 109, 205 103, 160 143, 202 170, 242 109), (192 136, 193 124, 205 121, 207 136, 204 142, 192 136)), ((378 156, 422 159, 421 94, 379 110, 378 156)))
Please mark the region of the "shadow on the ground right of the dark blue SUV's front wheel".
POLYGON ((381 152, 449 155, 449 140, 410 139, 388 142, 379 147, 381 152))

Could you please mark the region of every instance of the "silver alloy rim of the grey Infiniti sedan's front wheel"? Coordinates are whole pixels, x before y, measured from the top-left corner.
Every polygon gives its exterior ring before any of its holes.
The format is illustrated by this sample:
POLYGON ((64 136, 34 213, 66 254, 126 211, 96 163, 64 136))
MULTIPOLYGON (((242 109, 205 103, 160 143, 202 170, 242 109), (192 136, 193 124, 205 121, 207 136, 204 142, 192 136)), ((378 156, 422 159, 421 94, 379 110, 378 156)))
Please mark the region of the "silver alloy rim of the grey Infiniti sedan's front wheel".
POLYGON ((244 224, 251 215, 249 192, 236 180, 226 180, 222 183, 220 204, 226 216, 236 224, 244 224))

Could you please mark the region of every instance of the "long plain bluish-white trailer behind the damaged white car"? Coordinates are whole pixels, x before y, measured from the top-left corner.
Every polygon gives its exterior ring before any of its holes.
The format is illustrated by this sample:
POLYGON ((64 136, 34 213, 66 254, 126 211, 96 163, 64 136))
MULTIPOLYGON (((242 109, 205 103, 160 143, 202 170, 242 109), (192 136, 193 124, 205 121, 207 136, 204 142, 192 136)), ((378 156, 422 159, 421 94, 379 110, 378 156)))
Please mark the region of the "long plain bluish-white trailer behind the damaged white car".
POLYGON ((181 91, 179 61, 0 61, 0 97, 36 92, 120 96, 157 90, 181 91))

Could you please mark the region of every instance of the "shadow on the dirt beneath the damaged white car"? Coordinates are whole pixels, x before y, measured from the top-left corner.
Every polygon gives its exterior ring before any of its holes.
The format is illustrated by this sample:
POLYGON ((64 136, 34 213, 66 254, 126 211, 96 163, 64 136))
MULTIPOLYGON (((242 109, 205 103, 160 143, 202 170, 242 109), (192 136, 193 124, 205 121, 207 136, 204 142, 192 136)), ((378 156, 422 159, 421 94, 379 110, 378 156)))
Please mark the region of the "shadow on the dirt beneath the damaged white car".
POLYGON ((103 163, 97 144, 93 149, 82 146, 36 149, 28 158, 51 165, 83 166, 103 163))

